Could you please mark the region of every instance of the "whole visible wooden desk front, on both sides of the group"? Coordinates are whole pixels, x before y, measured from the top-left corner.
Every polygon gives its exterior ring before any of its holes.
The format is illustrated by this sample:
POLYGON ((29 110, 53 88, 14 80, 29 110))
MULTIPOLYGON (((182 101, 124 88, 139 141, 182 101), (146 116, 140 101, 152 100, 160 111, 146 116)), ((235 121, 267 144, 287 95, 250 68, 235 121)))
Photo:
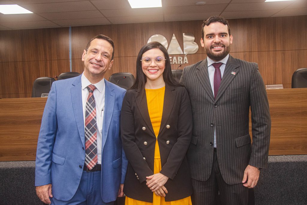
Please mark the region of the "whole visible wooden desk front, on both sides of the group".
MULTIPOLYGON (((272 119, 269 155, 306 155, 307 88, 267 90, 267 94, 272 119)), ((46 100, 0 99, 0 161, 35 160, 46 100)))

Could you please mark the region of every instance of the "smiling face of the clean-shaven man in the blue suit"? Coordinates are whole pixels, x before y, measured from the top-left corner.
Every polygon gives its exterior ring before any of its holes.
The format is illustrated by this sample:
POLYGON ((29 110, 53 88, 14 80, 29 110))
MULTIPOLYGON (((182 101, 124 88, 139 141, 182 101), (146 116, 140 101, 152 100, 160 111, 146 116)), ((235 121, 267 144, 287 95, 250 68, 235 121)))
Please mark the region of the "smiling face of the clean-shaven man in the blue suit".
POLYGON ((91 41, 88 49, 83 51, 84 75, 92 84, 101 81, 106 71, 111 69, 113 64, 113 60, 111 60, 112 51, 112 45, 108 41, 99 38, 91 41), (95 51, 99 53, 95 54, 95 51), (110 58, 103 57, 102 55, 104 54, 110 58))

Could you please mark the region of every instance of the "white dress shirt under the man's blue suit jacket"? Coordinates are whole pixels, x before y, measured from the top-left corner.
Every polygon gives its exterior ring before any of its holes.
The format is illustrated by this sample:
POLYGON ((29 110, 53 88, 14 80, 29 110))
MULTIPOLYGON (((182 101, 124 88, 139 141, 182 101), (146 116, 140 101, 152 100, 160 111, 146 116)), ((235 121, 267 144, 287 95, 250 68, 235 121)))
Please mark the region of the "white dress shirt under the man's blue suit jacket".
MULTIPOLYGON (((91 82, 82 73, 81 86, 82 86, 82 108, 83 108, 83 120, 85 126, 85 106, 88 97, 87 86, 91 85, 91 82)), ((93 92, 96 104, 96 121, 97 121, 97 156, 98 164, 101 164, 101 147, 102 147, 102 125, 103 125, 103 110, 104 110, 104 97, 105 97, 105 83, 104 78, 98 83, 93 84, 96 89, 93 92)))

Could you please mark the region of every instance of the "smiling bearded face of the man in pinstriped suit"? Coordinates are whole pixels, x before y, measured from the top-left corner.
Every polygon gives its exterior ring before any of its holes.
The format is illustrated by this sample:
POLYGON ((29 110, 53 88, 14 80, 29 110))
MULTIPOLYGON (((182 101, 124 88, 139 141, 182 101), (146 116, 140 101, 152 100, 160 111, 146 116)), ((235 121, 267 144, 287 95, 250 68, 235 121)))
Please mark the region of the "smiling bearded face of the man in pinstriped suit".
POLYGON ((232 35, 228 34, 227 25, 214 22, 204 26, 204 39, 200 43, 210 59, 220 61, 230 52, 232 35))

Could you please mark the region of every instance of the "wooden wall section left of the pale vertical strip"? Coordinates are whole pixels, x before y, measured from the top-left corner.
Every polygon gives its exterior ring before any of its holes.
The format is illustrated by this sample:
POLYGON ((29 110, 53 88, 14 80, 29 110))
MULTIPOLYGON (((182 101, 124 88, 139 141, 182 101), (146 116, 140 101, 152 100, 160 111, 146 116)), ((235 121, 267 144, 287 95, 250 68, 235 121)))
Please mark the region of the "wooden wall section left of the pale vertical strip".
POLYGON ((33 81, 70 70, 69 29, 0 32, 0 97, 31 97, 33 81))

